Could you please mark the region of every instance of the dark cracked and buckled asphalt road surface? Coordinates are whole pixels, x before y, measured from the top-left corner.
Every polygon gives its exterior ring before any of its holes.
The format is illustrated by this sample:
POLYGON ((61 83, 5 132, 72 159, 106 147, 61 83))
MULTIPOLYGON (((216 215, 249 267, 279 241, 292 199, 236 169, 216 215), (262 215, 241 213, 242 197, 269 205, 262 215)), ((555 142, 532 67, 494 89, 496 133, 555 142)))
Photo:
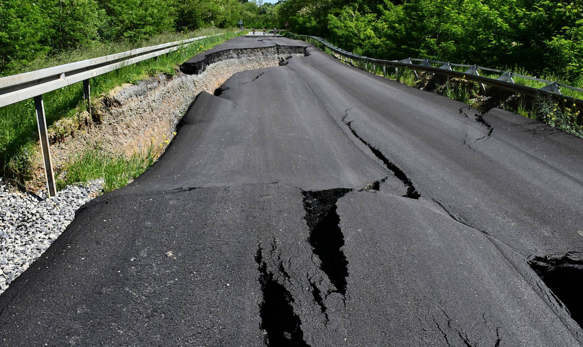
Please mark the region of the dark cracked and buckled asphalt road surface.
MULTIPOLYGON (((300 43, 220 48, 264 44, 300 43)), ((0 296, 2 345, 580 346, 527 261, 583 251, 583 141, 307 50, 199 94, 0 296)))

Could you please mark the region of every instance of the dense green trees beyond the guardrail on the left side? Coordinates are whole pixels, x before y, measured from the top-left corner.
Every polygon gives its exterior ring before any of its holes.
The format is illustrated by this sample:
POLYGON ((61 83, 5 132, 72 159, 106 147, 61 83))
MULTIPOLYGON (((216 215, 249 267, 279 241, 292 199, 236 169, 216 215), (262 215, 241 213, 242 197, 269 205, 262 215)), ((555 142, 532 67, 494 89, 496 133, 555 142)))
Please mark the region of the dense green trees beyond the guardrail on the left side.
POLYGON ((0 71, 100 41, 235 27, 241 18, 261 26, 273 7, 245 0, 0 0, 0 71))

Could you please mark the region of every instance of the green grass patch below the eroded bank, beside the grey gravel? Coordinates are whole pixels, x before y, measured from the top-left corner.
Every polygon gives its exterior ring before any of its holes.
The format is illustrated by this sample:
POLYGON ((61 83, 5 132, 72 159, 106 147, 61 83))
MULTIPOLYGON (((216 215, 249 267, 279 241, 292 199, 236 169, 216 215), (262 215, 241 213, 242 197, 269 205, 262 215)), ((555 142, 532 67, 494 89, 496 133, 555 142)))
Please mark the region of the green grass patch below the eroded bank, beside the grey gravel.
POLYGON ((106 192, 121 188, 134 180, 154 163, 155 153, 150 145, 143 153, 131 157, 106 152, 99 143, 87 147, 69 159, 69 164, 57 173, 57 189, 68 184, 86 183, 104 178, 106 192))

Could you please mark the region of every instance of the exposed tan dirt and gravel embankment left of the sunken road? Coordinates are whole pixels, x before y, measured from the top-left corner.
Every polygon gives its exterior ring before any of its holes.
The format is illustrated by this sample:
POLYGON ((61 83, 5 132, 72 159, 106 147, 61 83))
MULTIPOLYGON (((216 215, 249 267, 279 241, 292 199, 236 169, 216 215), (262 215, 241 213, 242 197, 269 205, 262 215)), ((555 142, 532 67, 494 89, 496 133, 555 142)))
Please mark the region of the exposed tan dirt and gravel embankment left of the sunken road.
MULTIPOLYGON (((72 156, 96 142, 114 154, 131 156, 153 146, 160 155, 198 93, 203 90, 213 93, 237 72, 278 66, 289 57, 304 55, 271 50, 217 54, 196 75, 177 69, 173 76, 159 73, 138 85, 119 86, 92 102, 92 115, 84 112, 76 119, 55 122, 49 129, 55 173, 70 162, 72 156)), ((27 182, 26 188, 37 192, 45 185, 40 155, 35 158, 34 166, 34 178, 27 182)))

